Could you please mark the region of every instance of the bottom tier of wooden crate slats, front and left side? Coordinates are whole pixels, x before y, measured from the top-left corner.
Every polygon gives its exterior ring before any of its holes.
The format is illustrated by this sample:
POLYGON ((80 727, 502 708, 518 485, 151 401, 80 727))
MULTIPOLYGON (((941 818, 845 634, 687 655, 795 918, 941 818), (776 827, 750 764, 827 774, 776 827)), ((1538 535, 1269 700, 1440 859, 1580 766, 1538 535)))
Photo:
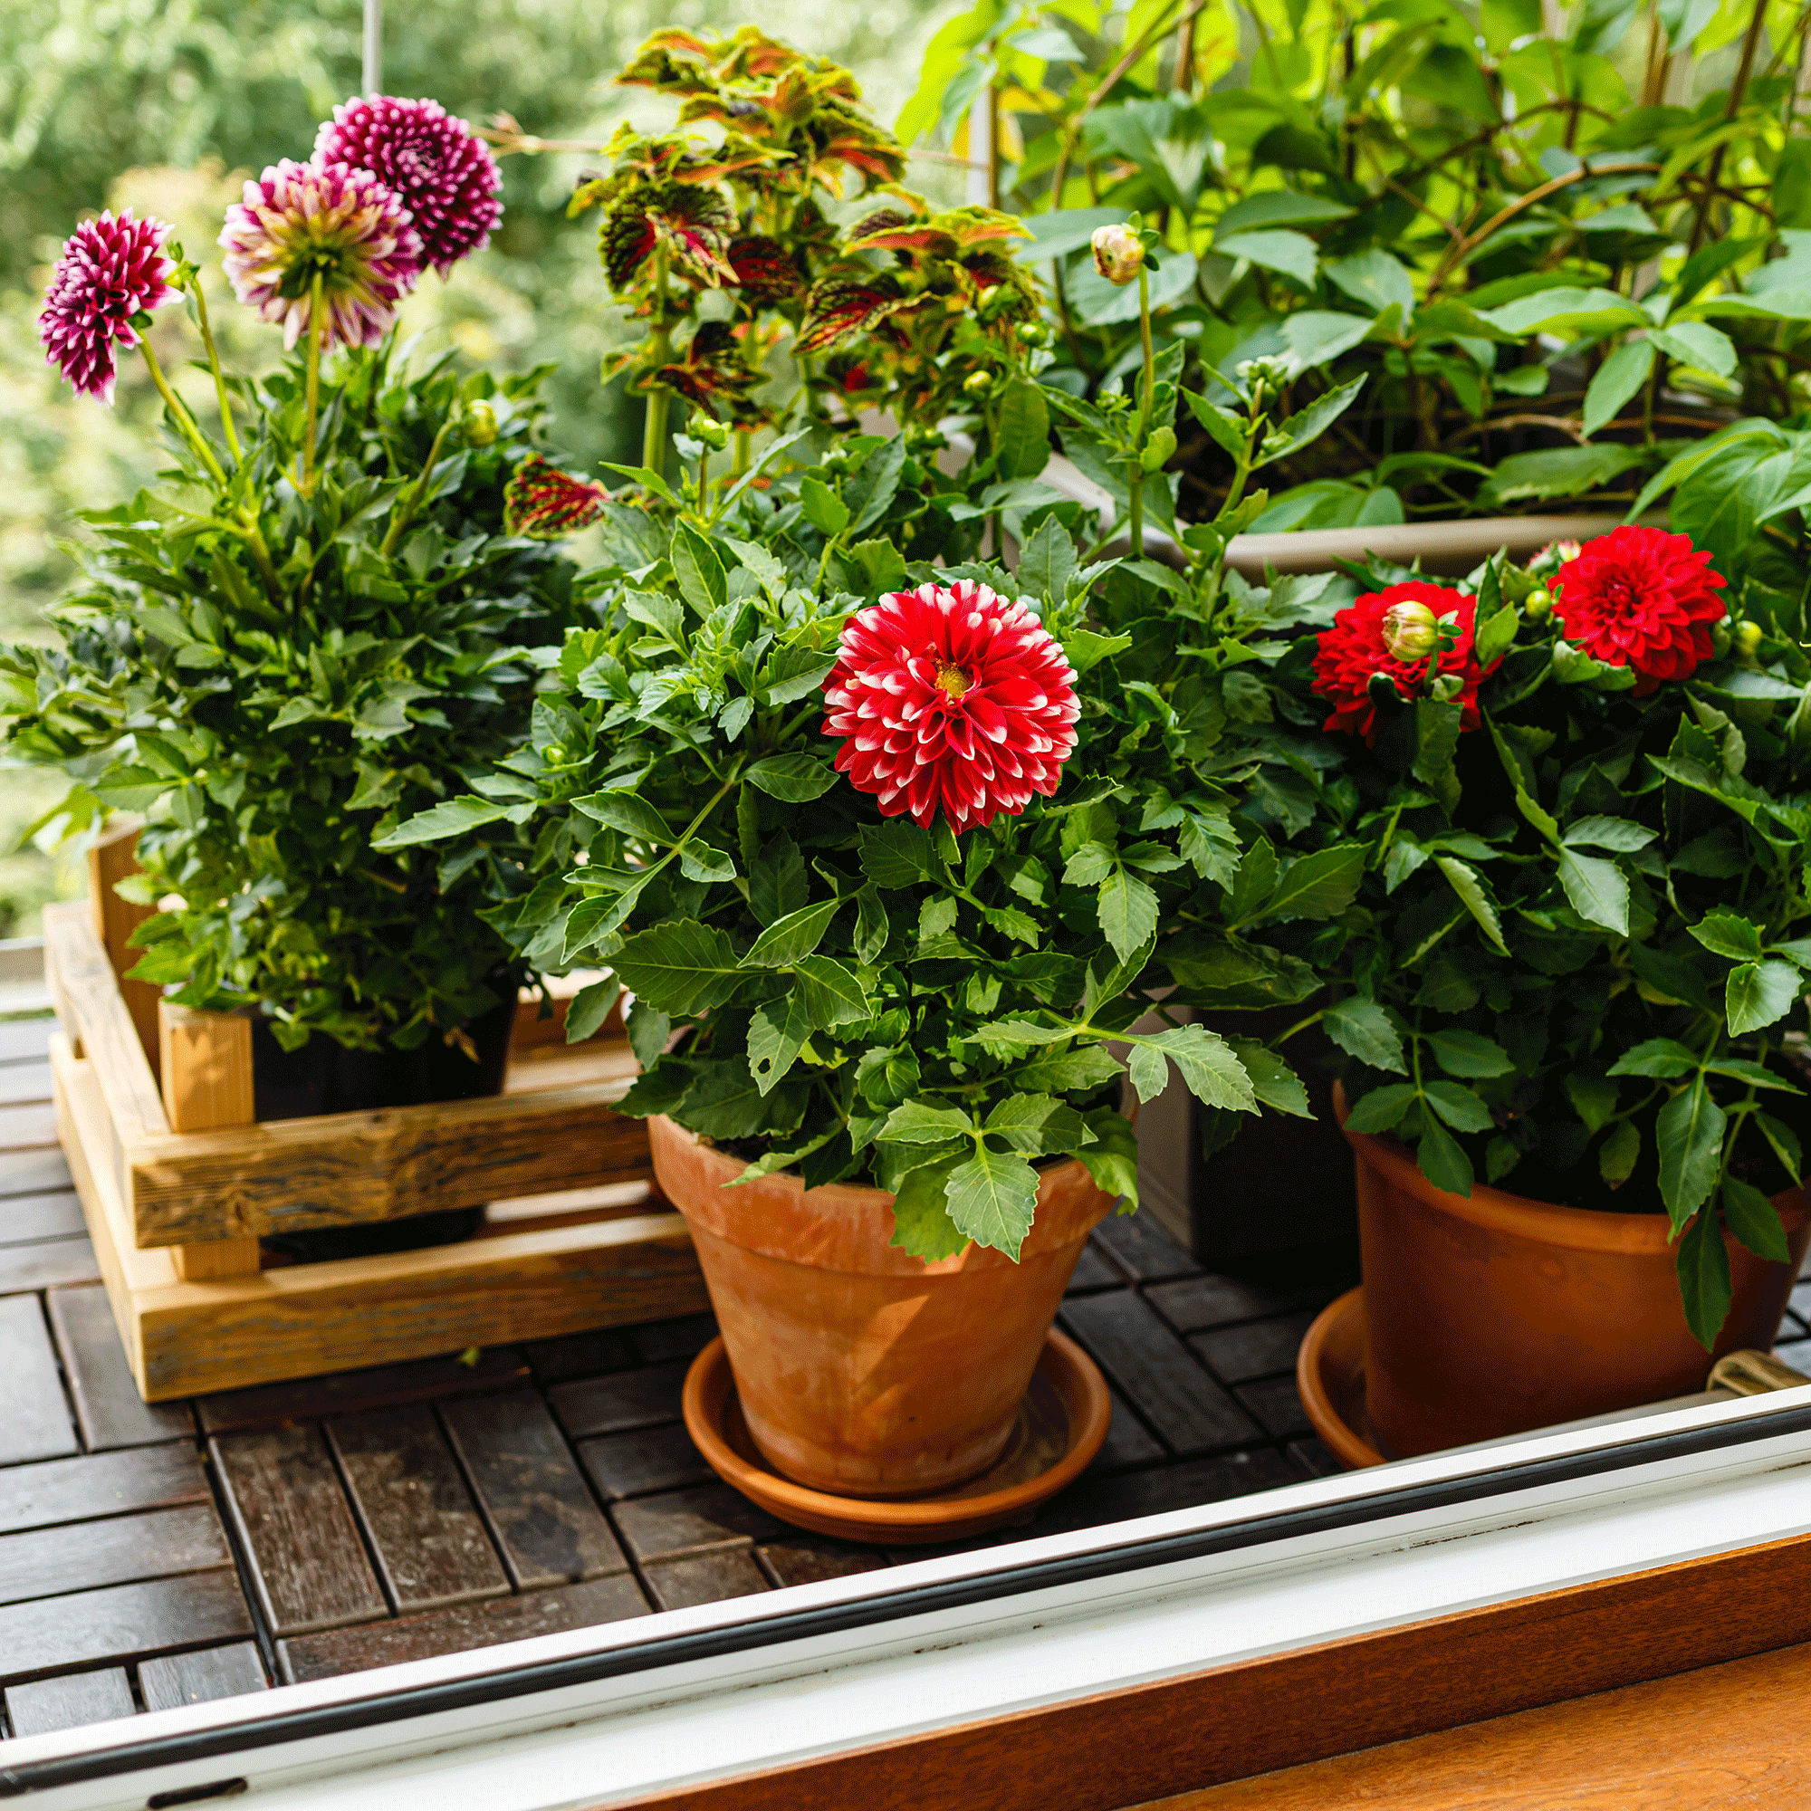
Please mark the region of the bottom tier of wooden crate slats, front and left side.
MULTIPOLYGON (((53 1040, 56 1103, 101 1277, 150 1402, 625 1326, 704 1306, 685 1221, 485 1230, 456 1246, 196 1284, 134 1242, 94 1067, 53 1040)), ((159 1108, 161 1110, 161 1108, 159 1108)))

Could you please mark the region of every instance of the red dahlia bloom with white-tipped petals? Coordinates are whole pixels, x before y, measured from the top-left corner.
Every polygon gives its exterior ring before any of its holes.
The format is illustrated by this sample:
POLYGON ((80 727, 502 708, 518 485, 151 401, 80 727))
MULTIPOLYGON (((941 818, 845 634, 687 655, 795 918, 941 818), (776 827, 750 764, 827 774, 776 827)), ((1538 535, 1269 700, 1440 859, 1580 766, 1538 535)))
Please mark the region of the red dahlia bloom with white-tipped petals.
POLYGON ((985 585, 896 590, 857 610, 824 681, 837 768, 922 829, 1018 815, 1049 797, 1076 748, 1076 674, 1021 603, 985 585))

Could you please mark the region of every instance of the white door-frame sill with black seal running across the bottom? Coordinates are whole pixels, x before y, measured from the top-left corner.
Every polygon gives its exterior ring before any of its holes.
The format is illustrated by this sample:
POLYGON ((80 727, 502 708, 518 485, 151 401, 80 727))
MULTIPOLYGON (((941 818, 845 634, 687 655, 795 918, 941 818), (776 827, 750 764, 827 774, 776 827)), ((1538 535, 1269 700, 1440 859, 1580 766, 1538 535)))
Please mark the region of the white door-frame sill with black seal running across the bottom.
POLYGON ((34 1811, 138 1811, 221 1780, 273 1811, 619 1804, 1802 1534, 1807 1467, 1811 1385, 0 1744, 0 1797, 83 1755, 112 1771, 29 1789, 34 1811), (1467 1500, 1398 1501, 1442 1492, 1467 1500), (1177 1538, 1221 1550, 1154 1565, 1150 1543, 1177 1538), (973 1601, 915 1608, 953 1588, 973 1601), (797 1632, 813 1615, 857 1626, 797 1632), (634 1664, 676 1637, 730 1652, 634 1664), (583 1657, 621 1670, 523 1690, 583 1657), (431 1702, 460 1686, 473 1702, 431 1702), (295 1726, 348 1711, 368 1720, 295 1726), (217 1751, 156 1751, 203 1731, 217 1751))

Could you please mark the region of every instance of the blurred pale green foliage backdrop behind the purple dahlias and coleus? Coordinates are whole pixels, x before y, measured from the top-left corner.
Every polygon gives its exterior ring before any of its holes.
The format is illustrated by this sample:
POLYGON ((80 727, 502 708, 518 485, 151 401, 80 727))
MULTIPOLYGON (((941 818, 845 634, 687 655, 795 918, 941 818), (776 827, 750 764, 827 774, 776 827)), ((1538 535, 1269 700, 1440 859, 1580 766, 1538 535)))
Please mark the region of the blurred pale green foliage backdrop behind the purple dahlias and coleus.
MULTIPOLYGON (((779 0, 389 0, 384 89, 433 96, 473 123, 509 112, 541 138, 601 143, 625 116, 670 116, 670 103, 610 85, 650 31, 753 22, 848 63, 891 121, 940 11, 936 0, 811 16, 779 0)), ((69 576, 56 545, 69 511, 129 496, 158 464, 156 395, 136 359, 121 360, 114 411, 71 397, 43 364, 38 301, 63 237, 83 214, 134 205, 174 221, 190 255, 212 263, 243 176, 306 158, 317 123, 359 87, 359 0, 0 0, 0 634, 31 636, 69 576)), ((589 469, 625 456, 639 427, 598 388, 623 330, 592 232, 563 217, 583 168, 583 154, 505 159, 502 232, 451 283, 426 277, 404 319, 424 350, 451 342, 474 364, 556 360, 554 438, 589 469)), ((913 177, 933 194, 951 183, 936 165, 913 177)), ((232 364, 275 364, 275 330, 225 288, 210 301, 232 364)), ((196 350, 179 317, 165 310, 156 335, 167 368, 196 350)), ((7 775, 0 849, 60 788, 51 773, 7 775)), ((81 880, 67 864, 31 849, 0 858, 0 936, 36 931, 43 900, 71 891, 81 880)))

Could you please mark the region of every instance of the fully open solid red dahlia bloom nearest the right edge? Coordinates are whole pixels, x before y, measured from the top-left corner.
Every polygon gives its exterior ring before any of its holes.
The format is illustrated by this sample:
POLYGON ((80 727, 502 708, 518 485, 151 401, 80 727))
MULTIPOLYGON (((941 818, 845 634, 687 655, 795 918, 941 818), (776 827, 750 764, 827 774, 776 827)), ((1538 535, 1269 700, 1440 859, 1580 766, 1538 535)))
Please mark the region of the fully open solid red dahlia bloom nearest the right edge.
POLYGON ((1690 536, 1612 529, 1559 569, 1554 616, 1567 641, 1606 666, 1634 666, 1635 690, 1652 692, 1662 679, 1690 679, 1711 657, 1722 585, 1690 536))

